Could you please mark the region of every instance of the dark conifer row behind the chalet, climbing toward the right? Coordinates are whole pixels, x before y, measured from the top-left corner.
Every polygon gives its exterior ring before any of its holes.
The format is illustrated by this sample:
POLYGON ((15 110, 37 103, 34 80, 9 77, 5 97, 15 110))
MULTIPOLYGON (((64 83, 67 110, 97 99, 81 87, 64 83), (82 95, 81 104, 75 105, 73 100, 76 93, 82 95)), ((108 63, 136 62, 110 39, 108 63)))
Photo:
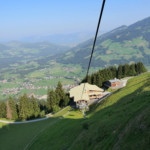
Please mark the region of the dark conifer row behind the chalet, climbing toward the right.
POLYGON ((85 77, 81 83, 88 82, 89 84, 95 84, 98 87, 102 87, 103 83, 107 80, 114 79, 114 78, 124 78, 128 76, 135 76, 141 73, 146 72, 147 69, 145 68, 142 62, 132 63, 132 64, 124 64, 116 66, 110 66, 108 68, 101 69, 96 73, 88 75, 85 77))

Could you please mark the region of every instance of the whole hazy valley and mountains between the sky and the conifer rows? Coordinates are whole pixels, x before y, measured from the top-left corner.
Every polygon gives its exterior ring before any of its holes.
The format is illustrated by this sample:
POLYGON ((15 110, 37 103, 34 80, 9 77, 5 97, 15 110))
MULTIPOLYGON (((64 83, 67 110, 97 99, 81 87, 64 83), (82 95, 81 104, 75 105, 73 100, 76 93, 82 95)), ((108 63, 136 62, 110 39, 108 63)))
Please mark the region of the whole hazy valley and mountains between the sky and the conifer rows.
MULTIPOLYGON (((142 61, 150 67, 150 18, 98 37, 91 72, 110 65, 142 61)), ((0 98, 24 92, 38 98, 61 81, 66 90, 85 76, 93 39, 70 48, 50 42, 0 44, 0 98)))

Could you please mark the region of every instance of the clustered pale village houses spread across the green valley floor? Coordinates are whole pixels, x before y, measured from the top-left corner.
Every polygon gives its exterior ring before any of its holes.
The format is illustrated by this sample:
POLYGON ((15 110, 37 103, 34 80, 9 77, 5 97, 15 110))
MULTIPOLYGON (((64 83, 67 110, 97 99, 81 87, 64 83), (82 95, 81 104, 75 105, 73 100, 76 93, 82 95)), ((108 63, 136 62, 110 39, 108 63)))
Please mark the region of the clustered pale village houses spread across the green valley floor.
MULTIPOLYGON (((47 99, 47 90, 48 89, 55 89, 56 85, 36 85, 35 83, 37 82, 43 82, 43 81, 47 81, 47 80, 60 80, 63 79, 64 77, 55 77, 55 76, 48 76, 48 77, 44 77, 43 79, 35 79, 35 78, 25 78, 24 82, 15 82, 15 81, 8 81, 8 80, 0 80, 1 85, 11 85, 11 84, 15 84, 15 87, 7 87, 7 88, 1 88, 0 92, 2 96, 12 96, 12 95, 19 95, 22 93, 22 91, 29 91, 28 95, 29 97, 34 96, 36 99, 39 100, 46 100, 47 99), (45 91, 42 94, 40 94, 40 92, 38 93, 38 91, 45 91), (35 91, 37 91, 35 94, 35 91), (45 93, 45 94, 44 94, 45 93)), ((76 78, 74 77, 66 77, 67 79, 75 79, 74 84, 64 84, 63 85, 63 89, 68 90, 72 87, 74 87, 75 85, 77 85, 79 79, 76 80, 76 78)))

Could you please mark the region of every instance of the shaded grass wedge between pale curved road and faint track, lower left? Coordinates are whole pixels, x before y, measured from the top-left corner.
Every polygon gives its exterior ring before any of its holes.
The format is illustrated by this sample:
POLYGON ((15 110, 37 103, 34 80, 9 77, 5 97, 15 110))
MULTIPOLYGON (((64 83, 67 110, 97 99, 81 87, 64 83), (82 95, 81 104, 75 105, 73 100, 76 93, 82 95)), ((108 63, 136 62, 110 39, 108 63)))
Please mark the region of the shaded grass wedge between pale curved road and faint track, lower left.
POLYGON ((22 150, 28 146, 28 144, 34 141, 34 138, 40 134, 47 127, 55 124, 61 120, 68 112, 70 107, 67 107, 63 111, 55 114, 54 118, 50 118, 44 121, 28 123, 28 124, 4 124, 0 123, 0 149, 1 150, 22 150))

